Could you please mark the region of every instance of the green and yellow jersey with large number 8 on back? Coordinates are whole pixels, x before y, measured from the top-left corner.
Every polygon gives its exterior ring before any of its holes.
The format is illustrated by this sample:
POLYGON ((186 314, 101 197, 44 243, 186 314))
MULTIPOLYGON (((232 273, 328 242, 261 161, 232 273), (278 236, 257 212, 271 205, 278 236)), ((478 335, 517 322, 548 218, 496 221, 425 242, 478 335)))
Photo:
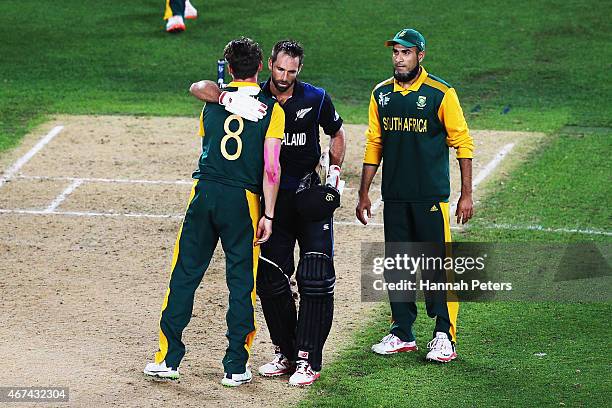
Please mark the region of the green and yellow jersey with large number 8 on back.
MULTIPOLYGON (((259 85, 252 82, 231 82, 226 90, 259 85)), ((200 114, 202 154, 193 178, 217 181, 261 194, 263 180, 264 139, 283 139, 285 113, 278 103, 262 92, 257 99, 272 111, 257 122, 231 114, 216 103, 204 106, 200 114)))

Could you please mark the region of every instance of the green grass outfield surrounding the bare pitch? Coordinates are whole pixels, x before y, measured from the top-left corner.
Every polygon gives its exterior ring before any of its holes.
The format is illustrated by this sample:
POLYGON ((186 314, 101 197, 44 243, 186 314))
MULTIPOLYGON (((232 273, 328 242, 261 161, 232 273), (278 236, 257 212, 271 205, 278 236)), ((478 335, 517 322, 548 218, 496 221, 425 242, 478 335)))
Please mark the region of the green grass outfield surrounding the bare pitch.
MULTIPOLYGON (((163 1, 3 1, 0 151, 56 113, 195 117, 189 84, 214 79, 223 46, 241 34, 266 53, 280 38, 302 41, 302 79, 324 86, 347 122, 365 123, 372 87, 390 76, 382 42, 413 26, 428 40, 424 65, 457 88, 472 128, 550 134, 456 238, 610 244, 562 230, 612 230, 612 3, 193 1, 201 18, 178 36, 163 32, 163 1)), ((610 303, 466 303, 460 358, 445 366, 423 362, 433 324, 420 311, 422 351, 369 352, 387 330, 381 306, 300 404, 586 407, 612 397, 610 303)))

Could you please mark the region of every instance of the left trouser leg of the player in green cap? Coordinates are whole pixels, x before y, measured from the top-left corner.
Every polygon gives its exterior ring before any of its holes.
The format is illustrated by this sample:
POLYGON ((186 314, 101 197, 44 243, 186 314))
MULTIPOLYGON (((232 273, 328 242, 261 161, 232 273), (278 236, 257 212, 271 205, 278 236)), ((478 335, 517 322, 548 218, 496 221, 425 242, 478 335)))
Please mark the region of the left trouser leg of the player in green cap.
MULTIPOLYGON (((415 226, 410 212, 410 203, 385 202, 383 210, 385 224, 385 243, 414 242, 415 226)), ((386 245, 386 247, 391 247, 386 245)), ((392 253, 385 253, 385 257, 394 257, 392 253)), ((395 273, 385 271, 385 280, 393 282, 404 278, 395 273)), ((389 332, 404 342, 415 340, 412 325, 417 317, 417 307, 413 299, 403 299, 405 294, 390 293, 391 329, 389 332), (394 301, 393 299, 397 300, 394 301)))

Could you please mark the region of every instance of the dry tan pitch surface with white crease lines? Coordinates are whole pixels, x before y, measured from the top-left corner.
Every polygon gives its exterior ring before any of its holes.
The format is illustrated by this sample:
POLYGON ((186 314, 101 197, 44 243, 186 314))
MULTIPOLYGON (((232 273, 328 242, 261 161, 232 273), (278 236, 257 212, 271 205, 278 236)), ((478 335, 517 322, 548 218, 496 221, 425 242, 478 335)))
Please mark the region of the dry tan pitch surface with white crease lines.
MULTIPOLYGON (((375 306, 360 302, 360 245, 383 240, 376 187, 372 225, 355 223, 365 127, 345 126, 349 188, 336 213, 336 310, 326 362, 375 306)), ((196 130, 197 121, 186 118, 61 116, 0 156, 0 385, 69 387, 70 406, 83 407, 284 406, 304 395, 286 377, 220 385, 227 299, 220 250, 196 292, 181 381, 142 374, 157 349, 172 248, 200 151, 196 130), (58 125, 59 133, 39 143, 58 125)), ((472 134, 477 201, 542 136, 472 134)), ((260 310, 257 320, 254 371, 272 351, 260 310)))

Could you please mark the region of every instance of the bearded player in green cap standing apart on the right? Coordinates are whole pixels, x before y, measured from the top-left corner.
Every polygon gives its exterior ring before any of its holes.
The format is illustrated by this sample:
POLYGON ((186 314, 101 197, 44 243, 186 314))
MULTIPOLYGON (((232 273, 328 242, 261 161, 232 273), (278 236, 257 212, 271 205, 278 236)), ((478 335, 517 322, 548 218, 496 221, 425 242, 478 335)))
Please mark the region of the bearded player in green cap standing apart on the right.
MULTIPOLYGON (((456 149, 461 170, 455 215, 465 224, 473 215, 473 140, 455 89, 421 66, 425 57, 421 33, 401 30, 386 45, 393 49, 394 75, 378 84, 370 98, 356 215, 367 224, 368 191, 382 162, 385 242, 450 242, 449 147, 456 149)), ((436 319, 428 360, 449 362, 457 357, 459 303, 452 296, 445 300, 436 301, 425 293, 427 313, 436 319)), ((379 354, 417 350, 414 301, 391 301, 391 313, 390 333, 372 350, 379 354)))

